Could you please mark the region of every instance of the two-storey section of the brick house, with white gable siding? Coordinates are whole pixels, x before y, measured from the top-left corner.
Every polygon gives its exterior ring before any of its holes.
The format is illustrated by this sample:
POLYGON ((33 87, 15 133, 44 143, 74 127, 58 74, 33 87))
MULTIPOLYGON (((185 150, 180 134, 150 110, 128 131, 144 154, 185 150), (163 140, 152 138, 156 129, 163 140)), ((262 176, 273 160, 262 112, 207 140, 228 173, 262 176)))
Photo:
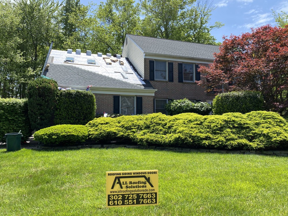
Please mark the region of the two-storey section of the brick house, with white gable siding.
POLYGON ((202 79, 199 65, 211 64, 215 52, 219 46, 127 34, 122 56, 157 89, 154 112, 165 113, 169 99, 212 103, 214 94, 207 94, 195 81, 202 79))

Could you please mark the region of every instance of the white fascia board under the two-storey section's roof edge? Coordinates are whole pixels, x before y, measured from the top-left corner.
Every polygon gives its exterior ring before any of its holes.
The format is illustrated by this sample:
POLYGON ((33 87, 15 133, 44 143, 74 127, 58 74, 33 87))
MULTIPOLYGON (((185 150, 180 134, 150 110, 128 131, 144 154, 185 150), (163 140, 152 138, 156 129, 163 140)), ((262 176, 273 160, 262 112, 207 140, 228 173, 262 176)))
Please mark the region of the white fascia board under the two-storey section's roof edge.
POLYGON ((144 53, 144 58, 153 58, 159 60, 170 60, 170 61, 184 61, 184 62, 192 62, 192 63, 203 63, 203 64, 211 64, 214 59, 209 58, 192 58, 187 56, 173 56, 173 55, 161 55, 155 53, 144 53))

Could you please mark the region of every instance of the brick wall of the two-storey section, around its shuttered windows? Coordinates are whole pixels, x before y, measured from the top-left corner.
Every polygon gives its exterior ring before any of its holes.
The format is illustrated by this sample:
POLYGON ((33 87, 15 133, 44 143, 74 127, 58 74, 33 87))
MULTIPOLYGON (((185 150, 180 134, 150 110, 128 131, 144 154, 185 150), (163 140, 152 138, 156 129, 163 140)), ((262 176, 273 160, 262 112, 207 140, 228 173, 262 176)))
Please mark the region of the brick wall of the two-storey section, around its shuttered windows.
MULTIPOLYGON (((149 80, 149 59, 144 59, 144 79, 149 80)), ((178 82, 178 63, 179 61, 168 61, 173 62, 173 79, 174 82, 155 80, 150 81, 152 86, 157 89, 155 92, 155 98, 167 98, 167 99, 183 99, 189 100, 201 100, 206 102, 207 100, 212 101, 215 97, 213 94, 207 94, 205 89, 198 86, 195 82, 178 82)), ((195 63, 197 65, 204 65, 208 67, 208 64, 195 63)), ((203 77, 201 77, 203 79, 203 77)))

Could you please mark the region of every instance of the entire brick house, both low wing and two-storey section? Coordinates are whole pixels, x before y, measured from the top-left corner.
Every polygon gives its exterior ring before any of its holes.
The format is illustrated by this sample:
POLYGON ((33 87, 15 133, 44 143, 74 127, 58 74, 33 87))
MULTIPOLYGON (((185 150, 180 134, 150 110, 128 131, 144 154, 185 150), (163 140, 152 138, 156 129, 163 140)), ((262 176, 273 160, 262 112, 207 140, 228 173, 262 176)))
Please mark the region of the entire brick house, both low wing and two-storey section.
POLYGON ((219 46, 127 34, 122 56, 50 46, 42 74, 60 88, 89 89, 98 113, 165 113, 170 99, 212 102, 195 81, 214 52, 219 46))

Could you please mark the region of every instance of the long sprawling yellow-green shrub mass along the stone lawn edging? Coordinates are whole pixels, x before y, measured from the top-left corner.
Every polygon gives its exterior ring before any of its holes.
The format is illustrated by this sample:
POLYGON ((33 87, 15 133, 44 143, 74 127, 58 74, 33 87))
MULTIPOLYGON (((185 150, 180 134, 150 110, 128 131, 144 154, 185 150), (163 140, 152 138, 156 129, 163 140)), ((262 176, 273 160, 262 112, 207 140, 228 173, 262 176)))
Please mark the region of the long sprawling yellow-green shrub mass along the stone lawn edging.
POLYGON ((89 138, 98 141, 130 141, 141 145, 207 147, 217 149, 276 149, 288 147, 288 123, 279 114, 253 111, 247 114, 97 118, 86 125, 89 138))

